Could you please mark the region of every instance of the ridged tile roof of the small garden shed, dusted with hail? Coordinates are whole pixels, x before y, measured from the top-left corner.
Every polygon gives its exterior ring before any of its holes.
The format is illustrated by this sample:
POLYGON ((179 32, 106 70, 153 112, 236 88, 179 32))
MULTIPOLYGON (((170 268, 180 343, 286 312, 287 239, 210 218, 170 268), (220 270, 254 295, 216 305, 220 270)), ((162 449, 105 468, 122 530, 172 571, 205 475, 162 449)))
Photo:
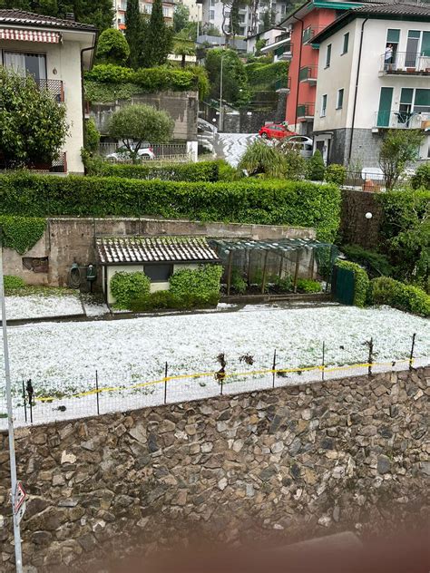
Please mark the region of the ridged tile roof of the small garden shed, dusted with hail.
POLYGON ((102 265, 132 263, 208 263, 220 259, 204 237, 96 238, 102 265))

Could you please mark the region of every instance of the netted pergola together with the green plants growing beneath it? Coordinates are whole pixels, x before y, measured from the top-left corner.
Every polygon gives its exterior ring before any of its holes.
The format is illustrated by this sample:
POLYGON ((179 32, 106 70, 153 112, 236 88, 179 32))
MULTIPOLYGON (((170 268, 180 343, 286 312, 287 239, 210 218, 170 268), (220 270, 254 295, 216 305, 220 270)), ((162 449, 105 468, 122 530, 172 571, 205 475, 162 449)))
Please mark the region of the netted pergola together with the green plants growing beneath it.
POLYGON ((211 239, 224 267, 227 296, 238 292, 235 283, 250 291, 297 292, 298 281, 330 280, 337 247, 310 238, 211 239))

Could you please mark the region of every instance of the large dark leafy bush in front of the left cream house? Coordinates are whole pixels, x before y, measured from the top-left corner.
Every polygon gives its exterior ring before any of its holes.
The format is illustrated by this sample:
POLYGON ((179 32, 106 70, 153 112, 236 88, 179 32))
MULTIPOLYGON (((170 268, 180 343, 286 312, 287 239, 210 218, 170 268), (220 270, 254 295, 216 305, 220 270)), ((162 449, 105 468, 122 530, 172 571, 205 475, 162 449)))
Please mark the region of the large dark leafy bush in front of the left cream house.
POLYGON ((0 150, 11 166, 57 159, 69 131, 64 105, 38 89, 33 76, 0 67, 0 150))

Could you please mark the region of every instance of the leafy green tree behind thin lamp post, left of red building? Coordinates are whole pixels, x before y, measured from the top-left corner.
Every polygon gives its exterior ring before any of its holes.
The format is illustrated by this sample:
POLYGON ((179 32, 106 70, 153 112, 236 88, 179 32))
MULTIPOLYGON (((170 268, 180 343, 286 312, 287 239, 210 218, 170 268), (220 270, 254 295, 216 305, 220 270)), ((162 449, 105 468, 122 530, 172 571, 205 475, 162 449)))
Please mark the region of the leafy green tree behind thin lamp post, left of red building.
POLYGON ((250 92, 245 66, 235 50, 212 48, 206 53, 206 71, 210 80, 210 97, 220 99, 222 59, 222 99, 237 106, 249 102, 250 92))

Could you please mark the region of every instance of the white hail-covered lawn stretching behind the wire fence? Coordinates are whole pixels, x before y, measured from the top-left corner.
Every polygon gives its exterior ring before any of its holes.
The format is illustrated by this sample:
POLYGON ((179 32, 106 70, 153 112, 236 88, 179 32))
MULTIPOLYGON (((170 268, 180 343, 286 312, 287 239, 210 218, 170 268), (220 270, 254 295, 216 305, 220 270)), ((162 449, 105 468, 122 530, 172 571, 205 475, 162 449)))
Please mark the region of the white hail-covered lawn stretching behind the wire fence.
MULTIPOLYGON (((430 355, 430 321, 388 307, 253 306, 230 313, 24 325, 8 330, 16 397, 28 378, 36 395, 67 396, 92 389, 95 370, 101 387, 158 380, 166 362, 170 375, 215 372, 220 368, 220 353, 225 354, 227 373, 271 368, 275 349, 278 368, 319 365, 323 342, 327 365, 363 363, 368 355, 364 343, 370 337, 376 362, 400 360, 408 357, 414 333, 415 356, 430 355)), ((175 384, 185 390, 198 381, 175 384)), ((5 385, 3 355, 0 385, 5 385)))

